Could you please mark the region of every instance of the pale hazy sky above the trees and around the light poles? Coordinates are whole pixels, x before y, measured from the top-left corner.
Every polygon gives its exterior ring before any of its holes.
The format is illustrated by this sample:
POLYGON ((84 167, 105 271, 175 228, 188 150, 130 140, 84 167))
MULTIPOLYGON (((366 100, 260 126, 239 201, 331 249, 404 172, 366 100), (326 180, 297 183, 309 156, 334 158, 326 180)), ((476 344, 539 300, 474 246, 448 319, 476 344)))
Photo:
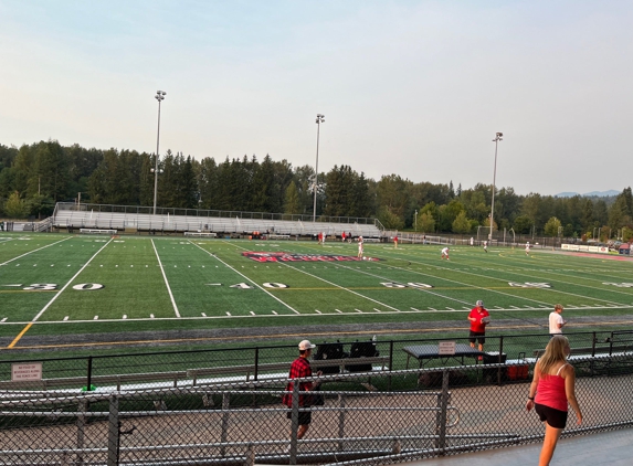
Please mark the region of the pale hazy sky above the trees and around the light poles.
POLYGON ((632 1, 0 0, 0 144, 622 190, 632 1))

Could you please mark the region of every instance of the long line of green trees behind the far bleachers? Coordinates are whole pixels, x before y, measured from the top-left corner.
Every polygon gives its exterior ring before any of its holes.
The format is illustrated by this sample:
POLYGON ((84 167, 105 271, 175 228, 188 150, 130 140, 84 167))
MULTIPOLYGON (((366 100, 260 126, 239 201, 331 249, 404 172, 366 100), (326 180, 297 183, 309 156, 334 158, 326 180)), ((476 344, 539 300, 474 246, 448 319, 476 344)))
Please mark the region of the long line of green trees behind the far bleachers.
MULTIPOLYGON (((52 213, 55 202, 154 204, 154 153, 62 146, 55 140, 0 145, 0 214, 20 219, 52 213)), ((473 234, 489 229, 492 186, 455 189, 453 182, 414 183, 398 174, 367 178, 351 167, 319 173, 268 155, 259 160, 212 157, 196 160, 170 150, 158 161, 157 205, 162 208, 376 216, 388 229, 473 234)), ((495 191, 495 230, 517 234, 601 239, 633 236, 631 188, 612 198, 558 198, 495 191)))

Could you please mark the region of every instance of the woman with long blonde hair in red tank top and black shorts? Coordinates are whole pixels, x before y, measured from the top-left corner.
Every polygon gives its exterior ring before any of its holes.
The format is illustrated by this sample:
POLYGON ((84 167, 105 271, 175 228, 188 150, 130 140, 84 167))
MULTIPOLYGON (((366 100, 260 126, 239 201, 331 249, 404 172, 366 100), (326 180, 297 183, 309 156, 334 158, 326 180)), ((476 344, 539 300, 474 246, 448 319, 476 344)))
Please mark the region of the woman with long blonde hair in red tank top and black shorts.
POLYGON ((567 362, 569 341, 556 335, 534 368, 526 407, 535 411, 545 424, 545 439, 540 451, 539 466, 548 466, 558 438, 567 423, 568 403, 576 413, 576 423, 582 422, 582 413, 576 399, 576 372, 567 362), (536 395, 536 396, 535 396, 536 395))

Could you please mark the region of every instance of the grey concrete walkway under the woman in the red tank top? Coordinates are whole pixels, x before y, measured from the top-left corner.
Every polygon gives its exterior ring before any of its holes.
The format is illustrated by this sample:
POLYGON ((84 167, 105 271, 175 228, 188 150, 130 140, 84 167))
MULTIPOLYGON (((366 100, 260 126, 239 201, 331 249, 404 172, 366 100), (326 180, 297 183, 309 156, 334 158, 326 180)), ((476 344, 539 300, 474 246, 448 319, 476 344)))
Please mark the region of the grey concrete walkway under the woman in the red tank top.
MULTIPOLYGON (((402 463, 401 466, 537 466, 541 444, 466 453, 402 463)), ((551 466, 633 465, 633 430, 603 432, 559 441, 551 466)))

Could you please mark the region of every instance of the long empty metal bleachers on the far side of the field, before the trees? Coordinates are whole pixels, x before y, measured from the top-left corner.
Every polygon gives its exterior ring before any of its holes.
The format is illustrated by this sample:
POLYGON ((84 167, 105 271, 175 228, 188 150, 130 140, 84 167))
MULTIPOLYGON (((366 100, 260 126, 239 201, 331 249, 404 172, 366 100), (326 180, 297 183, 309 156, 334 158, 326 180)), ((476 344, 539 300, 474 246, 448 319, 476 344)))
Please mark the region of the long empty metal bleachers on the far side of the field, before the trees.
MULTIPOLYGON (((59 202, 52 216, 52 226, 59 230, 116 230, 119 232, 208 232, 218 235, 250 235, 253 232, 262 234, 289 236, 312 236, 325 232, 328 236, 340 236, 342 232, 352 236, 376 237, 382 236, 376 223, 358 222, 312 222, 306 220, 277 220, 277 219, 244 219, 239 215, 181 215, 171 213, 139 213, 116 212, 123 206, 98 205, 59 202), (109 208, 104 211, 104 208, 109 208), (116 208, 116 209, 115 209, 116 208)), ((148 208, 144 208, 148 211, 148 208)), ((200 213, 200 211, 193 211, 200 213)), ((215 211, 217 212, 217 211, 215 211)), ((268 214, 270 215, 270 214, 268 214)), ((262 215, 263 216, 263 215, 262 215)), ((367 221, 367 219, 363 219, 367 221)))

